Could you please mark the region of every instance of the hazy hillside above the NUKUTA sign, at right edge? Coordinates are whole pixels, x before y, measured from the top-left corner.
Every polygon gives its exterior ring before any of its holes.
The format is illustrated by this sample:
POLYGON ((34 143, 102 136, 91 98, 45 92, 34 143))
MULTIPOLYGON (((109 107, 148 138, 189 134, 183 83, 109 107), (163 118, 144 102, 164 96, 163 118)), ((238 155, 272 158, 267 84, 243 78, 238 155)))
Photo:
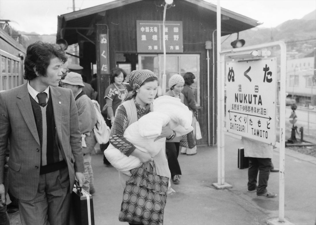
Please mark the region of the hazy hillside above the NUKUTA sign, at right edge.
MULTIPOLYGON (((227 37, 223 36, 222 42, 227 37)), ((236 38, 237 34, 232 34, 222 43, 222 49, 231 48, 230 43, 236 38)), ((287 45, 287 52, 297 52, 293 57, 305 57, 316 47, 316 10, 301 19, 288 20, 274 28, 255 27, 242 31, 239 38, 246 41, 245 46, 282 40, 287 45)))

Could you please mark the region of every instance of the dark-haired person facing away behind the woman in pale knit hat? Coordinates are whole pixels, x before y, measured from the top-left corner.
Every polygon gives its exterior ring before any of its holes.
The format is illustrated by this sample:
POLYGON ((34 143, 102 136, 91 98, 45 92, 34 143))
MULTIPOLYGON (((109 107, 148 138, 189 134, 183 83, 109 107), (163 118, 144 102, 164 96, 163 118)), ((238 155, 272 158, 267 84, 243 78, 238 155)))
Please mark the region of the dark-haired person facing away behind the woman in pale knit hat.
MULTIPOLYGON (((194 92, 191 88, 191 85, 194 83, 195 76, 191 72, 187 72, 183 75, 184 87, 182 94, 184 94, 184 104, 189 107, 189 110, 192 111, 192 116, 195 122, 197 117, 197 106, 195 102, 194 92)), ((195 127, 195 123, 192 126, 195 127)), ((197 153, 197 147, 195 142, 195 136, 193 131, 183 136, 183 139, 180 141, 181 153, 186 155, 194 155, 197 153)))

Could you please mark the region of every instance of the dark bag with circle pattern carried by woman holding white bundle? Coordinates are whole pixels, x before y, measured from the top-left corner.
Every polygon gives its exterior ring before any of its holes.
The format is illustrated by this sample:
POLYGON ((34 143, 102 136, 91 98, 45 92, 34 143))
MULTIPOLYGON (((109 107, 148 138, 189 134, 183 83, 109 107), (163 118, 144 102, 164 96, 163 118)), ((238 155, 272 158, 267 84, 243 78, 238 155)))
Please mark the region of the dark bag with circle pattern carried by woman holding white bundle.
MULTIPOLYGON (((151 166, 151 164, 149 163, 151 166)), ((131 169, 132 176, 126 181, 119 221, 142 224, 163 224, 163 212, 167 200, 168 177, 152 172, 145 164, 131 169)))

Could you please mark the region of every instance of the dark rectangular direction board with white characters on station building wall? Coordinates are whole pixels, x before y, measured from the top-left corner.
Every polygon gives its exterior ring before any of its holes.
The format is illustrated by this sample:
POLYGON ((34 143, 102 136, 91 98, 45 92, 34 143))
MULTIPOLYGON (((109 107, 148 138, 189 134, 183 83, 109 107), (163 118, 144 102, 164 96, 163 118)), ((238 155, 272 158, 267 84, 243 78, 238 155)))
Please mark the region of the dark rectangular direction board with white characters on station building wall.
MULTIPOLYGON (((137 20, 137 52, 163 52, 162 21, 137 20)), ((165 40, 167 53, 183 52, 182 21, 166 21, 165 40)))

